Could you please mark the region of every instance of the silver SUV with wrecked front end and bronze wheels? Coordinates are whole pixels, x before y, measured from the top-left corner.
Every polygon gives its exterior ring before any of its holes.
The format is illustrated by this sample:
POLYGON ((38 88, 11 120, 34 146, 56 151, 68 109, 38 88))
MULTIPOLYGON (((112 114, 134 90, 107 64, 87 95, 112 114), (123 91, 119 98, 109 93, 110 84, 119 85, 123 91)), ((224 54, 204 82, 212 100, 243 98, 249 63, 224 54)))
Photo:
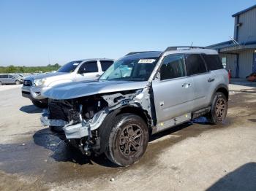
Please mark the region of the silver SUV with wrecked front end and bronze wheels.
POLYGON ((227 86, 227 71, 216 50, 132 52, 95 82, 46 91, 49 109, 41 122, 61 127, 64 139, 84 154, 105 152, 113 163, 127 166, 143 156, 151 134, 200 116, 222 123, 227 86))

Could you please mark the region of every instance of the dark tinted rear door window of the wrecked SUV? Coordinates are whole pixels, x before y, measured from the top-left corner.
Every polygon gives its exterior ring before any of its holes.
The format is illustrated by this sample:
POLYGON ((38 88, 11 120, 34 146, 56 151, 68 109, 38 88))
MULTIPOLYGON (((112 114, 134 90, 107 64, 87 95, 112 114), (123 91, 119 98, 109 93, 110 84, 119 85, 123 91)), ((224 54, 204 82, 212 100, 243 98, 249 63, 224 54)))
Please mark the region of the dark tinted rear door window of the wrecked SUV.
POLYGON ((199 54, 186 55, 187 75, 202 74, 206 72, 206 64, 199 54))

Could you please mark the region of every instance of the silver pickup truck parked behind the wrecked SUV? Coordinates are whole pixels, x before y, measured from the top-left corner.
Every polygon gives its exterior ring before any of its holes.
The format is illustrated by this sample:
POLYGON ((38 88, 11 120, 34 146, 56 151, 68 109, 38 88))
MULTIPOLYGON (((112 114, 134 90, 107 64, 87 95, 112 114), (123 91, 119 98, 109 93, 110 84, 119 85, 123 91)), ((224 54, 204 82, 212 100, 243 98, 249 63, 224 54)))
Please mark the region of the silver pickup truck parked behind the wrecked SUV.
POLYGON ((106 58, 72 61, 61 66, 56 72, 26 77, 21 90, 22 95, 30 98, 35 106, 45 108, 48 106, 48 98, 43 95, 46 90, 68 82, 98 79, 113 61, 106 58))

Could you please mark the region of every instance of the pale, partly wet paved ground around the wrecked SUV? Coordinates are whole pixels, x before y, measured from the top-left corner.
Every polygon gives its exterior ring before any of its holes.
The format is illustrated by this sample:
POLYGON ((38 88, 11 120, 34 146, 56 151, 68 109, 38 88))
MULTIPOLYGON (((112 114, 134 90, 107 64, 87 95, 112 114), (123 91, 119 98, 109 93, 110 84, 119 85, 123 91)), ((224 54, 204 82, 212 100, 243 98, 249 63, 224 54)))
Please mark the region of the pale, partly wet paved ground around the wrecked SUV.
POLYGON ((159 133, 138 163, 118 168, 68 147, 19 85, 2 86, 0 190, 256 190, 256 88, 230 94, 223 125, 200 118, 159 133))

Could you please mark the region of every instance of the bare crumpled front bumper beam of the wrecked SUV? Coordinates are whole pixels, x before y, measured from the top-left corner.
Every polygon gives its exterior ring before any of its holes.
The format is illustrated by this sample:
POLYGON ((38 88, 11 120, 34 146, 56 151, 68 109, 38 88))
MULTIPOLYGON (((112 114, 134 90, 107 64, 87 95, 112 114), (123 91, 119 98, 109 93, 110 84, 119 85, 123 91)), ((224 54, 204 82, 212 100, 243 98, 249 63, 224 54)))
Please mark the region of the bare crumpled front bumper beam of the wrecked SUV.
POLYGON ((49 120, 47 112, 42 113, 40 120, 44 126, 63 127, 62 129, 67 139, 80 139, 81 137, 90 135, 89 124, 78 123, 73 125, 72 122, 64 120, 49 120))

